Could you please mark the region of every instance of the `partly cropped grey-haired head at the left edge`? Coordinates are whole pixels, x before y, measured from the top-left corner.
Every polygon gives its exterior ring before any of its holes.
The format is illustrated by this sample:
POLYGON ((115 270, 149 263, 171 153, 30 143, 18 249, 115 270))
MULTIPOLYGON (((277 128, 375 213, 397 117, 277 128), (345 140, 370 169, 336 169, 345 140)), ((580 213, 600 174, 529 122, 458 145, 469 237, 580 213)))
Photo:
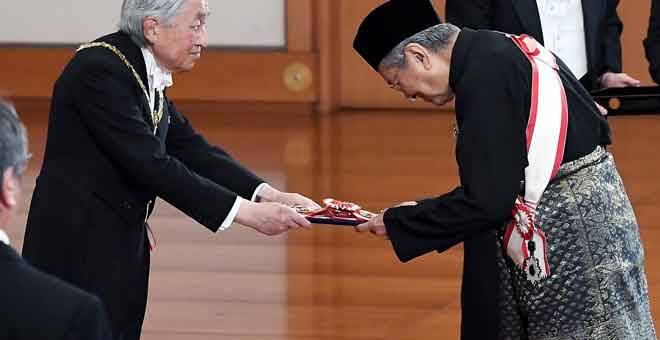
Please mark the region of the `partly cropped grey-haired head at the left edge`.
POLYGON ((0 98, 0 228, 9 224, 15 211, 28 158, 25 128, 14 107, 0 98))

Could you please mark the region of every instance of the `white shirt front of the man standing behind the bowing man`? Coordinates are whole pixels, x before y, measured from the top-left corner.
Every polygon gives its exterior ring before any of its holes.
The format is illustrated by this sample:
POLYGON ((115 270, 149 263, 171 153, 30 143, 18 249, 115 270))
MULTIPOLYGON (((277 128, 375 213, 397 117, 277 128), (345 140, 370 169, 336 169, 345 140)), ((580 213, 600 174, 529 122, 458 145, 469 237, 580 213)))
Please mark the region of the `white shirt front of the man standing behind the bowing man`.
POLYGON ((576 78, 587 74, 587 47, 581 0, 536 0, 544 46, 566 63, 576 78))

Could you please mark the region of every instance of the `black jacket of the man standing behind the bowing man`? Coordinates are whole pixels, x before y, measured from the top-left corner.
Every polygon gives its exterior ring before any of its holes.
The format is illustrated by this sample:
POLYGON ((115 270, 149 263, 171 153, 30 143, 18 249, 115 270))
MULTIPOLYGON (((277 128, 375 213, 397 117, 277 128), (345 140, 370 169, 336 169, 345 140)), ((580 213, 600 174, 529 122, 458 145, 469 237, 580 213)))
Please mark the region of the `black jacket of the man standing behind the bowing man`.
MULTIPOLYGON (((603 73, 621 72, 618 5, 619 0, 582 0, 588 69, 582 84, 587 90, 600 87, 603 73)), ((527 34, 543 44, 535 0, 447 0, 445 9, 447 21, 458 27, 527 34)))

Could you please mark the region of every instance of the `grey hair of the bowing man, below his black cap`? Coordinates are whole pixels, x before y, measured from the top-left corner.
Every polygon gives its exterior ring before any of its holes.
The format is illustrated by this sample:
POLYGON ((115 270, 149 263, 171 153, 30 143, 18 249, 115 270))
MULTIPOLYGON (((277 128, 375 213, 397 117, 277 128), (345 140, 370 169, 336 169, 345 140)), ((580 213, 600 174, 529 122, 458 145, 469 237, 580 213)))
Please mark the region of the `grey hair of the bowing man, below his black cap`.
POLYGON ((392 51, 383 58, 380 62, 380 66, 384 68, 402 68, 406 65, 404 50, 409 44, 420 44, 424 48, 430 49, 433 52, 438 52, 446 48, 451 42, 454 34, 460 31, 460 28, 449 23, 429 27, 396 45, 396 47, 394 47, 392 51))

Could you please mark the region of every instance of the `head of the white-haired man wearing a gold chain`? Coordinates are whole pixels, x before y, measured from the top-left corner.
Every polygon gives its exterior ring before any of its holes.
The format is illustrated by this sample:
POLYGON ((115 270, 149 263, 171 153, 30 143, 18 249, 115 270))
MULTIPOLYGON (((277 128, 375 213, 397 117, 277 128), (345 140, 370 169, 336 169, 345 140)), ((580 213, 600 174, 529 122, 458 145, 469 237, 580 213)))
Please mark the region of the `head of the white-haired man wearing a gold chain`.
POLYGON ((190 71, 206 48, 209 14, 207 0, 124 0, 119 29, 161 67, 190 71))

